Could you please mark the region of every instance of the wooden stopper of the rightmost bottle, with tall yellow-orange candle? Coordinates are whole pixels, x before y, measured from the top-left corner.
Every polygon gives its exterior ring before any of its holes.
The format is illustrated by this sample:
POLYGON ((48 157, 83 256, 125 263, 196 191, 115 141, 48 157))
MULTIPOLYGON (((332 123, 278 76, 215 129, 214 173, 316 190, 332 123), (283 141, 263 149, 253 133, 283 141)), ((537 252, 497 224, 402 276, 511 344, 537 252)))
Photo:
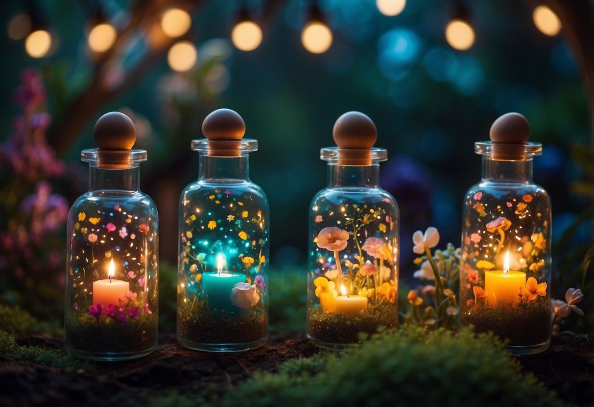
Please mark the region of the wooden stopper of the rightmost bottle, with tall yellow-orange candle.
POLYGON ((489 138, 495 160, 523 160, 530 138, 530 123, 520 113, 505 113, 491 125, 489 138))

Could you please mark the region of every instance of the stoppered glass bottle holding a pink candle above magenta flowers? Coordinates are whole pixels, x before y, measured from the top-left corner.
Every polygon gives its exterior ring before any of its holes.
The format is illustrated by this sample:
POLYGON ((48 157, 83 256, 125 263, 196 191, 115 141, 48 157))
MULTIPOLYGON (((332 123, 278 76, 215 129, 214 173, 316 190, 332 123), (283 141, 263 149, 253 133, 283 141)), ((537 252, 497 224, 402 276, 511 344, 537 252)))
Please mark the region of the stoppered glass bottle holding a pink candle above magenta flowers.
POLYGON ((68 214, 65 298, 66 348, 78 357, 125 360, 157 345, 159 222, 140 191, 134 123, 110 112, 93 136, 99 148, 81 151, 89 191, 68 214))

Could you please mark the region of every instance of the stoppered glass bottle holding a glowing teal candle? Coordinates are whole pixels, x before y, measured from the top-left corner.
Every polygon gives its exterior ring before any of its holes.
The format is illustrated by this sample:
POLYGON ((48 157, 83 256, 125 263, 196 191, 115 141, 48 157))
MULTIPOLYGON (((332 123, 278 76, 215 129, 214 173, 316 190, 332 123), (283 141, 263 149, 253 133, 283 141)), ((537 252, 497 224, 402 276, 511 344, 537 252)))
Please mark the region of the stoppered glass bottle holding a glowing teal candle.
POLYGON ((258 142, 244 120, 219 109, 204 119, 198 180, 179 201, 179 344, 236 352, 266 343, 268 200, 248 176, 258 142))

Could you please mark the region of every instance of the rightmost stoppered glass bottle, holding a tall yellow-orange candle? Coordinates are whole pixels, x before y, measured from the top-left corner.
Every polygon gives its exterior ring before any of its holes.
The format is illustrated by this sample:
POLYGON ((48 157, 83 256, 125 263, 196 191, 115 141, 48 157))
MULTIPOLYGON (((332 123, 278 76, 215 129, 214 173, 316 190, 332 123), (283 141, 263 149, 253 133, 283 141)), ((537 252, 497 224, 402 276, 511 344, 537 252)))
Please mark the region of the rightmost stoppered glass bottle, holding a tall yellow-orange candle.
POLYGON ((509 339, 516 354, 551 341, 551 200, 532 181, 530 125, 507 113, 476 142, 482 180, 466 193, 460 264, 460 319, 477 332, 509 339))

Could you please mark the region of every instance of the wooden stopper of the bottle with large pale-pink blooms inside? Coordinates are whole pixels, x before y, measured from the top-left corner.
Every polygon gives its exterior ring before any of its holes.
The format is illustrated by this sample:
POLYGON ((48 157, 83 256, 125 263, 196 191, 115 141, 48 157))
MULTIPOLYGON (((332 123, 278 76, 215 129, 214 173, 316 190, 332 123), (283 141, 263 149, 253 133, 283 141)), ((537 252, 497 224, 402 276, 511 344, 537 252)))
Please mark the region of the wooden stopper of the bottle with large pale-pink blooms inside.
POLYGON ((332 135, 339 147, 339 166, 371 165, 371 147, 377 140, 377 129, 368 116, 346 112, 334 123, 332 135))

